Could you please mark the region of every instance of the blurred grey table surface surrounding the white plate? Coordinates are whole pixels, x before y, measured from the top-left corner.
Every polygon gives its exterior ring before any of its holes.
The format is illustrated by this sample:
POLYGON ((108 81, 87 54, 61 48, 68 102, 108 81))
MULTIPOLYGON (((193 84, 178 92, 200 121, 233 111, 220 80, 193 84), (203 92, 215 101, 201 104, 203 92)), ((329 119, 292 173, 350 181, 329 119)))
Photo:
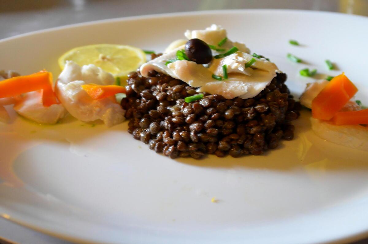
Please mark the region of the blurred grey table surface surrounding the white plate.
MULTIPOLYGON (((368 0, 0 0, 0 39, 109 18, 198 10, 278 8, 368 16, 368 0), (144 7, 143 7, 144 6, 144 7)), ((70 244, 0 218, 0 243, 70 244)), ((368 243, 368 239, 354 244, 368 243)))

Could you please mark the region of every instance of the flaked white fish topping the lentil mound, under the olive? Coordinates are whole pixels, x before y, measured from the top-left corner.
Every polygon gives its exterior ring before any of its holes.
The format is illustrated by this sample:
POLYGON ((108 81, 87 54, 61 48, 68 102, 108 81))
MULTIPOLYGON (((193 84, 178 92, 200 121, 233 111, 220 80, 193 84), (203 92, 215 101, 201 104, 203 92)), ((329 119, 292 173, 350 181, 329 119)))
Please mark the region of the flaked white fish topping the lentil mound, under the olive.
MULTIPOLYGON (((187 38, 199 38, 210 45, 217 45, 226 35, 226 30, 217 25, 212 25, 205 30, 188 30, 185 32, 187 38)), ((230 49, 233 45, 238 44, 227 40, 221 48, 230 49)), ((276 73, 281 73, 281 71, 274 63, 250 55, 250 50, 244 44, 240 43, 237 47, 239 51, 220 59, 213 59, 206 66, 188 60, 180 60, 165 65, 167 60, 176 59, 177 50, 185 48, 182 45, 145 63, 141 66, 140 72, 142 76, 148 77, 151 70, 156 70, 182 80, 192 87, 198 87, 198 91, 220 94, 227 99, 255 97, 270 84, 276 73), (245 67, 245 64, 253 58, 256 62, 251 67, 245 67), (224 76, 223 65, 228 67, 229 79, 222 81, 213 79, 213 74, 224 76)), ((212 50, 212 54, 217 55, 218 52, 212 50)))

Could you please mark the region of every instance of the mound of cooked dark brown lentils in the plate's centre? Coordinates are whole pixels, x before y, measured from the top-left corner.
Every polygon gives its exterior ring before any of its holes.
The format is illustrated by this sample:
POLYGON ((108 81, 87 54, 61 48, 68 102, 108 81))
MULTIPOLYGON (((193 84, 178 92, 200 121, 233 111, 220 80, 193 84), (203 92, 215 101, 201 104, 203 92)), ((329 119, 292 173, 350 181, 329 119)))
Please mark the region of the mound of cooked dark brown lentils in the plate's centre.
POLYGON ((128 75, 121 106, 134 139, 171 158, 259 155, 294 137, 290 122, 301 107, 285 81, 286 74, 277 74, 254 98, 204 93, 187 103, 185 97, 198 94, 195 88, 162 73, 152 71, 145 78, 138 71, 128 75))

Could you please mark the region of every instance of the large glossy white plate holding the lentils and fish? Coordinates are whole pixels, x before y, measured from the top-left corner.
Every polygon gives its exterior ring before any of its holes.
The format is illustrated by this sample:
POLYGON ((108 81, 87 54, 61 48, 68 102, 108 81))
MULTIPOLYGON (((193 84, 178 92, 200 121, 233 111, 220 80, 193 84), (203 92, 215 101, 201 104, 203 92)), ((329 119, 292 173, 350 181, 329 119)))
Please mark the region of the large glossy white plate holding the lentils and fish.
MULTIPOLYGON (((57 77, 75 46, 121 43, 163 50, 186 29, 223 25, 289 75, 345 71, 368 104, 368 18, 310 11, 213 11, 121 18, 0 41, 1 69, 57 77), (289 39, 302 45, 292 46, 289 39), (286 53, 308 64, 291 63, 286 53), (324 60, 336 62, 329 72, 324 60)), ((321 75, 322 76, 322 75, 321 75)), ((322 243, 368 230, 368 152, 319 139, 308 111, 296 138, 263 156, 171 160, 127 132, 67 119, 0 125, 0 213, 52 235, 96 243, 322 243), (83 126, 82 126, 83 125, 83 126), (215 197, 218 201, 211 202, 215 197)))

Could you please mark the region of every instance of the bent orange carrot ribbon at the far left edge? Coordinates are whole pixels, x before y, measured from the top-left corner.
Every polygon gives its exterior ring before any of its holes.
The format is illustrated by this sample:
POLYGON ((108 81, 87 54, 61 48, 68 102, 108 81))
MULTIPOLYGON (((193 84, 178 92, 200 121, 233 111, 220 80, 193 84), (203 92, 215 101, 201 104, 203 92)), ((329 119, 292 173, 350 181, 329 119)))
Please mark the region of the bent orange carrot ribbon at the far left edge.
POLYGON ((14 97, 30 91, 43 90, 42 102, 45 107, 57 104, 52 90, 52 74, 40 71, 28 76, 16 76, 0 82, 0 98, 14 97))

